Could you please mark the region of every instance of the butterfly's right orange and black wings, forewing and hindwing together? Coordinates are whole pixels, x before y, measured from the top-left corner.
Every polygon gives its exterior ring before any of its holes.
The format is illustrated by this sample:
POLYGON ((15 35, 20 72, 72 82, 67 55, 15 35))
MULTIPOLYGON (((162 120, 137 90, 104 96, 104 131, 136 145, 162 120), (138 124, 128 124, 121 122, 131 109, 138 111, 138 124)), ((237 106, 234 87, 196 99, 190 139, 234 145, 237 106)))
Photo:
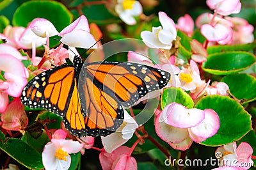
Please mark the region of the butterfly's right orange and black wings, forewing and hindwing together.
POLYGON ((122 106, 129 107, 150 91, 161 89, 170 73, 137 63, 90 63, 79 76, 79 95, 86 134, 108 135, 124 119, 122 106))

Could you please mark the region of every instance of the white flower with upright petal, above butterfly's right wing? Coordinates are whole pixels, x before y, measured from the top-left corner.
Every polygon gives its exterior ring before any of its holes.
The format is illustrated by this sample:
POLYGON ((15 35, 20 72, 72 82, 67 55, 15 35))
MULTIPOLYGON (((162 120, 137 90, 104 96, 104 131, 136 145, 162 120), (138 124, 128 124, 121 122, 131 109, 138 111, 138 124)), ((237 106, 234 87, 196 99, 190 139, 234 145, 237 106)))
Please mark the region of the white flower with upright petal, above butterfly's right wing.
POLYGON ((141 38, 150 48, 170 50, 172 48, 172 42, 176 40, 177 36, 175 24, 166 13, 159 12, 158 15, 162 26, 152 27, 152 32, 142 31, 141 38))

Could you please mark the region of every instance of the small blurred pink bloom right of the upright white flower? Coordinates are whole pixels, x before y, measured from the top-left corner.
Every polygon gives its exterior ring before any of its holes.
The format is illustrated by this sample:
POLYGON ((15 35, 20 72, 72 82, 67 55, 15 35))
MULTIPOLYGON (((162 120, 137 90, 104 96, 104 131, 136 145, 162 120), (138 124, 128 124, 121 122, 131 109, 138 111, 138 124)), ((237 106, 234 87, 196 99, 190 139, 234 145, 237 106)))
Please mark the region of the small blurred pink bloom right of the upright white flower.
POLYGON ((176 27, 191 36, 193 34, 195 24, 190 15, 185 14, 184 17, 179 17, 176 27))

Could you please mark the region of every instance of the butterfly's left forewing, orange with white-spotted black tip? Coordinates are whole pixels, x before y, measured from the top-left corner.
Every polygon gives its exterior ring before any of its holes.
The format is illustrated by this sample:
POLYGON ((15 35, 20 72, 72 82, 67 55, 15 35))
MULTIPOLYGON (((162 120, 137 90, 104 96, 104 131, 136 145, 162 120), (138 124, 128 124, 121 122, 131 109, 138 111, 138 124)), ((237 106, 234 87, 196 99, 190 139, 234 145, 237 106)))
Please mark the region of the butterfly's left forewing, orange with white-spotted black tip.
POLYGON ((28 107, 44 108, 63 116, 73 89, 74 67, 62 65, 36 75, 23 89, 20 98, 28 107))

